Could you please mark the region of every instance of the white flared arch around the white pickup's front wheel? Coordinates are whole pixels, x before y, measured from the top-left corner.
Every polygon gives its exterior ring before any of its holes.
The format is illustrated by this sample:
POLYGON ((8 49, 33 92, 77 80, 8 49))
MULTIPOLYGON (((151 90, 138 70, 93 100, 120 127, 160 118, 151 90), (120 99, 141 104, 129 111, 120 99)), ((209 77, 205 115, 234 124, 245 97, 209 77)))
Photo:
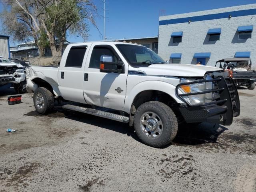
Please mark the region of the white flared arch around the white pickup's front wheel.
POLYGON ((140 82, 136 84, 130 90, 129 93, 126 94, 125 102, 124 102, 124 111, 130 114, 130 108, 132 106, 134 98, 142 91, 146 90, 156 90, 156 91, 162 91, 166 94, 170 95, 177 103, 184 103, 182 100, 178 98, 175 92, 176 86, 163 82, 158 80, 148 80, 144 82, 140 82))

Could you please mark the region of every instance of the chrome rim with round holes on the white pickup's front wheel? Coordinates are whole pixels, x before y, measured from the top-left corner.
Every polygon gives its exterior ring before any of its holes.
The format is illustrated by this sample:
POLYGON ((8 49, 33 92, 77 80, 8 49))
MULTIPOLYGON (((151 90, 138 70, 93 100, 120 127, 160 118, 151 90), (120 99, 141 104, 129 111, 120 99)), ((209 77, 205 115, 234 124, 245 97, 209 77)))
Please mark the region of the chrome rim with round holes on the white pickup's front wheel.
POLYGON ((154 112, 145 112, 140 118, 140 128, 149 138, 158 138, 163 132, 163 123, 154 112))

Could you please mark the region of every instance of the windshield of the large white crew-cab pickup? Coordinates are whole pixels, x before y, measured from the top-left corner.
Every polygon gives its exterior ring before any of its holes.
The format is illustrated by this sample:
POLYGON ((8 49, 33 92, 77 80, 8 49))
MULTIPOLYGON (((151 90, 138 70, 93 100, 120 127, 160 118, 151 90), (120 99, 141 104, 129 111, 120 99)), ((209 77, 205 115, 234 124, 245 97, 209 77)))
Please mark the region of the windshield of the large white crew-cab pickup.
POLYGON ((132 66, 166 63, 158 54, 144 46, 116 44, 117 48, 132 66))

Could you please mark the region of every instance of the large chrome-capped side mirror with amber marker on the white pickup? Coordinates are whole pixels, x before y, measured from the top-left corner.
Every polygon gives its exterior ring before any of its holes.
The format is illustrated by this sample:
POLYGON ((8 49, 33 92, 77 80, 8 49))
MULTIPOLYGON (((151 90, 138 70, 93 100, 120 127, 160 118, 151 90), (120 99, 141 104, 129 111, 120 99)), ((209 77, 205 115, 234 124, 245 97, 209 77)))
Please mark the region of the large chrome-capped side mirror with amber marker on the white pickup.
POLYGON ((103 73, 124 73, 123 62, 113 62, 112 56, 100 56, 100 72, 103 73))

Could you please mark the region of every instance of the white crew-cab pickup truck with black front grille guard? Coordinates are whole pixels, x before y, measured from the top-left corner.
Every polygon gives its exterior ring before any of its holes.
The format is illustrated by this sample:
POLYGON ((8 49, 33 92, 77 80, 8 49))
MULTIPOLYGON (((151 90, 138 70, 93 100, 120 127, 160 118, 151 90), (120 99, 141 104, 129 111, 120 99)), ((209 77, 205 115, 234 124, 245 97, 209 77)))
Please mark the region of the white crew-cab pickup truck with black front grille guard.
POLYGON ((59 66, 26 70, 38 113, 50 112, 55 99, 76 102, 62 107, 134 125, 153 147, 169 144, 179 123, 230 125, 240 114, 236 86, 222 69, 168 64, 136 44, 70 44, 59 66))

